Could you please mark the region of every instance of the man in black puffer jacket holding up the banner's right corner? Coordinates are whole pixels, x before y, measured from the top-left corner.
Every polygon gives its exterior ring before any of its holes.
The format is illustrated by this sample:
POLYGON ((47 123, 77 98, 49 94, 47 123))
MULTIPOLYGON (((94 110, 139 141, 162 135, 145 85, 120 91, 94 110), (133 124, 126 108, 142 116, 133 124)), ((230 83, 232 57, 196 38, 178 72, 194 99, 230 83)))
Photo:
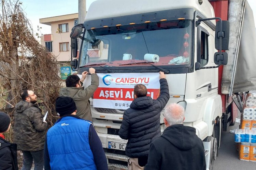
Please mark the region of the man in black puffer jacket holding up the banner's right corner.
POLYGON ((147 95, 147 88, 138 84, 134 87, 134 100, 124 112, 119 136, 128 139, 125 153, 129 170, 144 169, 152 140, 161 136, 160 112, 167 104, 170 95, 165 74, 159 72, 160 96, 153 100, 147 95))

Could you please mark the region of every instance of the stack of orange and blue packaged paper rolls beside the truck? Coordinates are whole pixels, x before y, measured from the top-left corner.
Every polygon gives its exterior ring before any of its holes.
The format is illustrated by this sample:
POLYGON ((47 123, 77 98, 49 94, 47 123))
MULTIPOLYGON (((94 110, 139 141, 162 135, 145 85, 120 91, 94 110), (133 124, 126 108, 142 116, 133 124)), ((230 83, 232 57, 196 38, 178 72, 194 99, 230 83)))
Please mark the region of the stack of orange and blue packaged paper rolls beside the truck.
POLYGON ((235 131, 235 142, 240 142, 239 158, 256 162, 256 94, 246 96, 240 128, 235 131))

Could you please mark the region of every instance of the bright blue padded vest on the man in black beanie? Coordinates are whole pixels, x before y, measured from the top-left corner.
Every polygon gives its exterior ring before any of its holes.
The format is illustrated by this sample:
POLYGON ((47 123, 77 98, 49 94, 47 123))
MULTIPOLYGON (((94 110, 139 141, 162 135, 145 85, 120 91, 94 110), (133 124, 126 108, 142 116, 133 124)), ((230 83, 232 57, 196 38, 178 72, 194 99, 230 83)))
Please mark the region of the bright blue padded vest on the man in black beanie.
POLYGON ((89 145, 90 125, 86 120, 67 116, 48 130, 51 169, 97 169, 89 145))

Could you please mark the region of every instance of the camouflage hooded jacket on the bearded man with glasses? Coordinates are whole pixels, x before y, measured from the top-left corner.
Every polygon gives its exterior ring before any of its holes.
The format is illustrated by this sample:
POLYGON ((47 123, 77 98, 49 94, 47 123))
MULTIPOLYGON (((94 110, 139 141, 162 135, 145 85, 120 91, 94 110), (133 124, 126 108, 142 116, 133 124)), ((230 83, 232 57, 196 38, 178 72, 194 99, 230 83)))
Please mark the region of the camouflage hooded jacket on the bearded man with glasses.
POLYGON ((44 149, 47 123, 43 122, 41 109, 33 103, 20 101, 15 105, 14 136, 18 150, 39 151, 44 149))

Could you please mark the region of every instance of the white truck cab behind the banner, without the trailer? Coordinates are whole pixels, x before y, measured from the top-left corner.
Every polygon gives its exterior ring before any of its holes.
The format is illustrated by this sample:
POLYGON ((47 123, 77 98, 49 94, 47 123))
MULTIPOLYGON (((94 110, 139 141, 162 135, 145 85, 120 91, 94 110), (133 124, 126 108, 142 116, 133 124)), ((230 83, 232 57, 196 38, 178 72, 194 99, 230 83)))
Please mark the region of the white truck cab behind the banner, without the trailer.
MULTIPOLYGON (((74 47, 76 37, 82 39, 78 61, 75 59, 71 64, 78 74, 94 67, 97 73, 103 74, 100 83, 105 85, 120 81, 105 79, 104 75, 149 74, 150 77, 165 72, 170 94, 168 104, 178 103, 185 108, 184 125, 196 129, 204 143, 207 169, 212 169, 220 140, 220 129, 216 131, 214 127, 220 126, 222 118, 218 67, 227 63, 225 52, 217 50, 227 49, 229 33, 222 23, 216 27, 212 5, 201 2, 97 0, 90 5, 85 22, 76 27, 80 31, 77 33, 73 28, 71 32, 74 47), (226 37, 216 34, 224 33, 225 29, 226 37), (222 41, 224 38, 227 41, 222 41)), ((74 50, 73 56, 76 54, 74 50)), ((84 86, 89 84, 89 79, 84 82, 84 86)), ((96 98, 90 99, 91 115, 109 167, 125 168, 127 140, 118 136, 118 130, 124 110, 132 100, 125 106, 110 103, 102 107, 96 98)), ((109 99, 104 100, 107 103, 109 99)), ((162 112, 159 123, 163 131, 162 112)))

